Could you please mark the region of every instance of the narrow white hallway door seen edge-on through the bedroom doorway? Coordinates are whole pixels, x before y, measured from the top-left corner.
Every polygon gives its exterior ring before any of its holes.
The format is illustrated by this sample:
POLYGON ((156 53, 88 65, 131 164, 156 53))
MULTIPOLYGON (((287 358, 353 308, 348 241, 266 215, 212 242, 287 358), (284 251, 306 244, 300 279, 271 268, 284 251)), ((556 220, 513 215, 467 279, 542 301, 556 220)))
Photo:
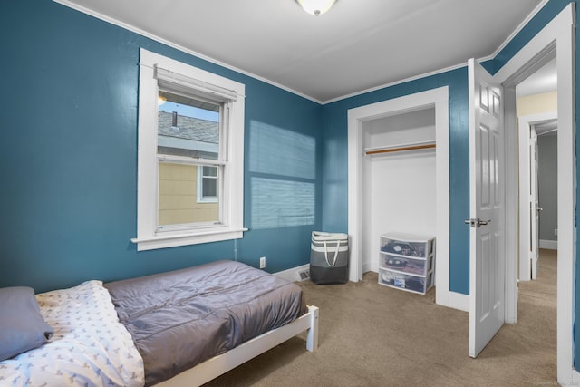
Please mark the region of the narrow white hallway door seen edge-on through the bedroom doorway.
POLYGON ((537 266, 539 264, 540 247, 540 211, 539 197, 537 195, 537 133, 533 127, 529 131, 529 209, 531 225, 530 229, 530 259, 532 266, 532 279, 537 277, 537 266))

